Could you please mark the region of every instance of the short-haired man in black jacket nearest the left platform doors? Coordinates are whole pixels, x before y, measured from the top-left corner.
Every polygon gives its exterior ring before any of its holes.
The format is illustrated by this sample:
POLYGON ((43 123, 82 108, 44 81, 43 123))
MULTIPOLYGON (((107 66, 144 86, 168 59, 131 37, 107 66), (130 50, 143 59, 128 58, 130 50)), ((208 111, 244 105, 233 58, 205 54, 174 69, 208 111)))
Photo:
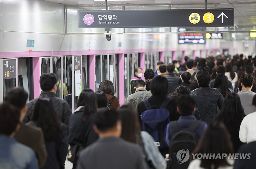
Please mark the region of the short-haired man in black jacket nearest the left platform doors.
MULTIPOLYGON (((56 96, 57 91, 57 78, 56 75, 51 74, 42 74, 40 77, 40 87, 41 87, 41 96, 48 96, 52 99, 55 111, 57 112, 60 121, 63 122, 67 127, 67 134, 68 134, 68 128, 69 128, 69 116, 72 114, 72 111, 66 101, 56 96)), ((24 123, 27 123, 30 121, 31 115, 33 113, 33 109, 35 106, 35 102, 37 102, 37 99, 34 99, 27 103, 27 114, 25 118, 23 119, 24 123)))

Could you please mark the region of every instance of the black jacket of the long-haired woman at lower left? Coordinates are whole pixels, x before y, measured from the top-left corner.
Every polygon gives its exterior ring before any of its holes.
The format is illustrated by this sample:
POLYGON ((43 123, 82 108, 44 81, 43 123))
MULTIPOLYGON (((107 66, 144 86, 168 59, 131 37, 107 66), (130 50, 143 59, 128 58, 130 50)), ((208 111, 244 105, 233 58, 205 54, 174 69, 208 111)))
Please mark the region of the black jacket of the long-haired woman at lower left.
MULTIPOLYGON (((38 126, 37 122, 30 121, 29 126, 38 126)), ((65 160, 68 153, 68 141, 66 127, 60 123, 60 131, 57 141, 45 142, 47 150, 47 160, 45 166, 41 169, 64 169, 65 160)))

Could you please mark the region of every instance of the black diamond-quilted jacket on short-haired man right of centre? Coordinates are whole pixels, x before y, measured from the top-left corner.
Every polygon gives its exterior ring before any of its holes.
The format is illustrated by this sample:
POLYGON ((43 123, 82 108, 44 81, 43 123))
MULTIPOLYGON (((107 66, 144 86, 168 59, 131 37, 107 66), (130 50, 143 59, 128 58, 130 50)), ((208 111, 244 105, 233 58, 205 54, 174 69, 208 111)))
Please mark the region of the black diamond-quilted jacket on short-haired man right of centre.
POLYGON ((217 114, 217 106, 221 109, 224 102, 222 94, 218 90, 208 86, 199 86, 197 89, 191 91, 190 95, 196 101, 200 120, 207 124, 210 123, 217 114))

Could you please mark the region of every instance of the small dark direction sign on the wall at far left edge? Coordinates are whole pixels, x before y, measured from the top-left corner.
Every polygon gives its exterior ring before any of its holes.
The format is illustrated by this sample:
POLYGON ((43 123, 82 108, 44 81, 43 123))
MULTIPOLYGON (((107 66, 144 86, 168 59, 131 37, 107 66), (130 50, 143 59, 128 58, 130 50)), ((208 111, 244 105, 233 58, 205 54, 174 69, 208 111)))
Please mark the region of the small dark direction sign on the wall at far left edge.
POLYGON ((3 60, 3 79, 16 78, 16 59, 3 60))

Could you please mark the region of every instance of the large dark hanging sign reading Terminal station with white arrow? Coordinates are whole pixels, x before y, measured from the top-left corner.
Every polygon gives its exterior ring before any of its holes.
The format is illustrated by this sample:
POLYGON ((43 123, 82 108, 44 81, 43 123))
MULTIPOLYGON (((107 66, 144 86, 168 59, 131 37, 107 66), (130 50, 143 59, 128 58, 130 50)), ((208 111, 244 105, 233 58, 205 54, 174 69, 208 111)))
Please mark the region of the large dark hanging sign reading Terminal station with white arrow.
POLYGON ((234 8, 78 11, 78 28, 218 26, 234 26, 234 8))

